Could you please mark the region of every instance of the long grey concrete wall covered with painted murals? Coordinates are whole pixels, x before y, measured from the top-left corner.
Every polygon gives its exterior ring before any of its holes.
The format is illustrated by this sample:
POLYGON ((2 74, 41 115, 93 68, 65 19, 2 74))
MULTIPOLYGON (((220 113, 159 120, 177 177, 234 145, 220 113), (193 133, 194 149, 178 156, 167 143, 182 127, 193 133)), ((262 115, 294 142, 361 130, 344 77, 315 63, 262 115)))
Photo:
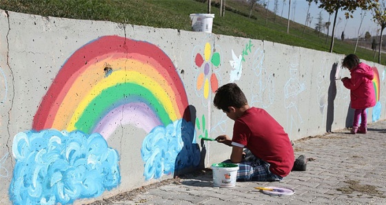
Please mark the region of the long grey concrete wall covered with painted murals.
MULTIPOLYGON (((0 12, 0 204, 90 202, 227 159, 230 148, 200 139, 232 135, 212 106, 229 82, 291 140, 352 124, 334 80, 343 55, 0 12)), ((380 90, 371 123, 385 119, 385 66, 366 63, 380 90)))

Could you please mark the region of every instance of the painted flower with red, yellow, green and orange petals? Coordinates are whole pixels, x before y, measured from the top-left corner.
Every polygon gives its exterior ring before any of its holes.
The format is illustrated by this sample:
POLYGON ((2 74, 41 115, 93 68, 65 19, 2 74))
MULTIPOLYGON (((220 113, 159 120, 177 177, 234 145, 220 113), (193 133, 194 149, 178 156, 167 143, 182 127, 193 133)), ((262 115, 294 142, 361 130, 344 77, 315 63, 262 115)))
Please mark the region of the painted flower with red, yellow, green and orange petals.
POLYGON ((197 90, 203 90, 204 98, 209 97, 210 91, 214 93, 219 88, 219 80, 214 72, 211 71, 211 64, 219 67, 220 54, 219 52, 213 52, 210 43, 206 43, 204 47, 203 55, 197 53, 194 58, 194 63, 199 69, 203 69, 203 72, 199 73, 196 81, 197 90))

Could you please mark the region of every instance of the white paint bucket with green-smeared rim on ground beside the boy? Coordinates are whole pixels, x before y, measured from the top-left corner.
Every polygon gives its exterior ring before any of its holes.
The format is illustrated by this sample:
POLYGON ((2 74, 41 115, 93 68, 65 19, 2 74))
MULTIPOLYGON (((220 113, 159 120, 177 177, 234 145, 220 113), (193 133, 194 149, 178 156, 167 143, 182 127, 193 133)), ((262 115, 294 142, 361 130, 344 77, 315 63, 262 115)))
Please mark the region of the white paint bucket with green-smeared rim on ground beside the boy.
POLYGON ((234 187, 236 186, 236 176, 238 165, 232 163, 212 164, 213 186, 234 187))

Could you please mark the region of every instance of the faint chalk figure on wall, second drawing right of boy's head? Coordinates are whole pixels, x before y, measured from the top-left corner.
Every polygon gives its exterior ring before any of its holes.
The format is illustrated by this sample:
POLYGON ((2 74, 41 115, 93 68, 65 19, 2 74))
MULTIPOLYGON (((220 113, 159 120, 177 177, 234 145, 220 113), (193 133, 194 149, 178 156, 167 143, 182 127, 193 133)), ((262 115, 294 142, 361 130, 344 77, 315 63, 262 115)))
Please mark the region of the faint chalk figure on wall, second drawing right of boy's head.
MULTIPOLYGON (((296 58, 297 60, 297 58, 296 58)), ((305 91, 305 84, 296 77, 298 63, 290 64, 290 79, 284 85, 284 106, 287 109, 287 133, 292 133, 293 127, 299 127, 303 118, 298 111, 297 99, 302 91, 305 91)))

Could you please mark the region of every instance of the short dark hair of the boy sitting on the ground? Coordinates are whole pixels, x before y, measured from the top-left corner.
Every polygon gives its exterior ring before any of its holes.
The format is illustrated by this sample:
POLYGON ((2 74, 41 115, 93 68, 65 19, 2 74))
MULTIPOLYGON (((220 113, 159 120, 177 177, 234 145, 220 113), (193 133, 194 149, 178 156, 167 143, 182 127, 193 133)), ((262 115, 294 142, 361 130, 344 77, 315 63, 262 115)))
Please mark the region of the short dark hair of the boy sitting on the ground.
POLYGON ((228 107, 240 108, 247 103, 247 98, 236 83, 228 83, 219 87, 213 99, 214 106, 226 112, 230 111, 228 107))

